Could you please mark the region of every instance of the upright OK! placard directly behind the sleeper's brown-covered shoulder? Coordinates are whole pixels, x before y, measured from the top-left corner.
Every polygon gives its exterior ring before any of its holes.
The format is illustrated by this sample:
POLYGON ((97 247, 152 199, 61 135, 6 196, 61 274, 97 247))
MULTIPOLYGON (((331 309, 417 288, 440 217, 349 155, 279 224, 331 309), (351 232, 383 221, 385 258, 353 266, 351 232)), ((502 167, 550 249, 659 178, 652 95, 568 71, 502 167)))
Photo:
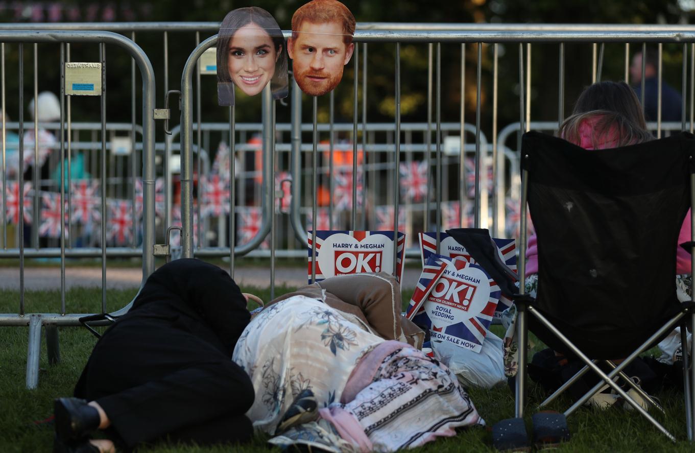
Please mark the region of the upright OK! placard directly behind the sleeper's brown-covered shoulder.
MULTIPOLYGON (((311 231, 309 235, 309 284, 311 281, 311 231)), ((395 277, 403 272, 405 234, 398 233, 395 277)), ((316 281, 363 272, 393 273, 393 231, 316 231, 316 281)))

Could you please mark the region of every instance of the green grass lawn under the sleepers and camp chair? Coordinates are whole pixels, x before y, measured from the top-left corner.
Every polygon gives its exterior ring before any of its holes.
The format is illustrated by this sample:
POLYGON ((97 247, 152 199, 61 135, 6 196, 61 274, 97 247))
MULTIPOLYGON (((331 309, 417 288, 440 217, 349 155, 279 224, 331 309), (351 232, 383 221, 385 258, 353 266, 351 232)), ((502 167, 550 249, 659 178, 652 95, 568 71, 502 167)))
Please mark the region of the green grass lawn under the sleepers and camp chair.
MULTIPOLYGON (((245 292, 256 293, 267 300, 268 290, 242 288, 245 292)), ((292 288, 277 288, 277 295, 292 288)), ((108 307, 117 309, 124 306, 135 295, 135 290, 109 290, 108 307)), ((16 313, 17 291, 0 290, 0 313, 16 313)), ((410 294, 404 294, 407 301, 410 294)), ((74 289, 67 292, 67 306, 73 313, 88 313, 98 310, 101 304, 101 290, 74 289)), ((55 312, 60 303, 58 291, 27 291, 26 306, 34 313, 55 312)), ((499 327, 493 327, 500 333, 499 327)), ((66 327, 60 329, 61 363, 49 366, 45 345, 42 349, 39 386, 26 390, 27 327, 0 328, 0 452, 50 452, 53 442, 51 425, 36 426, 34 420, 42 420, 52 413, 53 400, 59 396, 71 395, 83 365, 88 359, 96 339, 86 329, 66 327)), ((502 418, 514 415, 514 397, 507 386, 491 390, 470 388, 469 392, 478 411, 489 426, 502 418)), ((530 415, 535 406, 545 396, 537 386, 529 386, 530 402, 527 406, 527 426, 530 428, 530 415)), ((655 417, 678 437, 678 443, 671 443, 657 429, 638 414, 614 408, 608 411, 580 409, 569 418, 572 440, 562 445, 562 452, 691 452, 693 446, 687 443, 685 432, 685 411, 682 394, 662 393, 657 395, 664 404, 667 415, 657 413, 655 417)), ((550 409, 564 410, 569 400, 561 399, 550 409)), ((256 452, 270 451, 265 447, 265 437, 256 436, 252 445, 236 447, 231 445, 215 448, 195 446, 157 445, 140 450, 142 452, 256 452)), ((462 430, 455 438, 440 439, 419 449, 421 452, 485 452, 494 451, 491 435, 487 429, 462 430)))

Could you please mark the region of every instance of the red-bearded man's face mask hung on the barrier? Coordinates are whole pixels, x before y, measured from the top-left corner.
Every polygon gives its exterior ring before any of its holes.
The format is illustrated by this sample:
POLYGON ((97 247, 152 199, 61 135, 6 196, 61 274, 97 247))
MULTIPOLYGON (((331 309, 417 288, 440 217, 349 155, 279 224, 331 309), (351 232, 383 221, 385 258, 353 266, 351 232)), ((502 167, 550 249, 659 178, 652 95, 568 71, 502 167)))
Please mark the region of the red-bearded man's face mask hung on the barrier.
POLYGON ((312 0, 295 11, 287 51, 303 92, 322 96, 338 86, 354 51, 354 27, 354 16, 337 0, 312 0))

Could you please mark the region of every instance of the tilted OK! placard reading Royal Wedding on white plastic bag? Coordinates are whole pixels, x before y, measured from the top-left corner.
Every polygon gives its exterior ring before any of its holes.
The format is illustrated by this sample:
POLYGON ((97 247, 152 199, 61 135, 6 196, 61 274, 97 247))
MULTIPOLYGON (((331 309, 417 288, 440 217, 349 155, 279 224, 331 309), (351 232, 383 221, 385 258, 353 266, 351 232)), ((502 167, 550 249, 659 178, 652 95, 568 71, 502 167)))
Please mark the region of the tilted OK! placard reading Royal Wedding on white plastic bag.
POLYGON ((406 316, 430 329, 433 340, 480 352, 499 297, 497 283, 479 265, 432 254, 406 316))

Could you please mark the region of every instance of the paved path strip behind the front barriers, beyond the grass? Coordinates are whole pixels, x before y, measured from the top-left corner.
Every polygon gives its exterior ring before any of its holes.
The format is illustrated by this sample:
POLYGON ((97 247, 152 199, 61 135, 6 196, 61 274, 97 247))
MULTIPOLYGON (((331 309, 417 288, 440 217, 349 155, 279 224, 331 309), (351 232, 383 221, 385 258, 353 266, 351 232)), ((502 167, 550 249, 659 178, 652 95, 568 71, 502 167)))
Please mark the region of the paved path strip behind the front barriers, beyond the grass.
MULTIPOLYGON (((276 267, 275 285, 302 286, 306 284, 304 268, 276 267)), ((265 288, 270 285, 270 270, 262 267, 238 267, 235 270, 236 281, 242 285, 265 288)), ((404 288, 414 288, 420 270, 405 269, 404 288)), ((107 288, 137 288, 142 279, 140 268, 114 267, 106 270, 107 288)), ((65 286, 67 288, 88 287, 101 288, 101 267, 67 267, 65 269, 65 286)), ((28 290, 60 289, 60 267, 26 267, 24 287, 28 290)), ((0 267, 0 288, 19 289, 19 269, 17 267, 0 267)))

